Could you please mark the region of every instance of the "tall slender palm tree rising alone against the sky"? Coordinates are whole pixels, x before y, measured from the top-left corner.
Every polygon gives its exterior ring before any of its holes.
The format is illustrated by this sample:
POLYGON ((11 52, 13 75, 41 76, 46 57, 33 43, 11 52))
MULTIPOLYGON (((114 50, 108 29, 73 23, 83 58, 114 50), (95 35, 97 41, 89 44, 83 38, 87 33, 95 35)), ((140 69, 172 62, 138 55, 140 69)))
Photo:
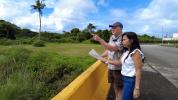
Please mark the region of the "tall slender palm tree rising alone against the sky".
POLYGON ((42 9, 46 6, 44 4, 44 0, 36 0, 34 5, 31 5, 32 9, 38 11, 39 13, 39 20, 40 20, 40 28, 39 28, 39 40, 41 39, 41 16, 43 15, 42 9))

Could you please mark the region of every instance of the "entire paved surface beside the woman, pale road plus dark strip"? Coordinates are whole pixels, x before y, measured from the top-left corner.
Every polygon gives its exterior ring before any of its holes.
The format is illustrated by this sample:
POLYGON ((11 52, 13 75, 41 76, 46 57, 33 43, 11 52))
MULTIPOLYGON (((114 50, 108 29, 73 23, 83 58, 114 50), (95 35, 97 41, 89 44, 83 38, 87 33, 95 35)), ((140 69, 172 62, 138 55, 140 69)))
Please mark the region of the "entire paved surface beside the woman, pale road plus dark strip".
MULTIPOLYGON (((178 48, 142 45, 146 56, 137 100, 178 100, 178 48)), ((113 87, 107 100, 115 100, 113 87)))

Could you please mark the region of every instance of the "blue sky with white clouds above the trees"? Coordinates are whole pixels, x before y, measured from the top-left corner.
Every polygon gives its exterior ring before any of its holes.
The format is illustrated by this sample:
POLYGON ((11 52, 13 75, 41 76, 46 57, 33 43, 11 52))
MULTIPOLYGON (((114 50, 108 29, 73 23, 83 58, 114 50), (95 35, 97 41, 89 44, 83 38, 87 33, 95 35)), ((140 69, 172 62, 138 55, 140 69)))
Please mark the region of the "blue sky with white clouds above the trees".
MULTIPOLYGON (((0 19, 38 31, 36 0, 0 0, 0 19)), ((178 33, 178 0, 45 0, 42 31, 84 29, 89 23, 109 29, 116 21, 123 31, 156 37, 178 33)))

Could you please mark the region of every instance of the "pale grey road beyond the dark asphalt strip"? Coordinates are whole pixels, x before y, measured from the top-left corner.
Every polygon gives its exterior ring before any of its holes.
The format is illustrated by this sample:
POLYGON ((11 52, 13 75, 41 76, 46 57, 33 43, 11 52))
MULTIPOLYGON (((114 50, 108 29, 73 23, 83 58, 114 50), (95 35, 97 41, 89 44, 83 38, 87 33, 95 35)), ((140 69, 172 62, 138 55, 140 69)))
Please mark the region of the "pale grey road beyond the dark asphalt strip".
POLYGON ((142 45, 148 63, 178 88, 178 48, 142 45))

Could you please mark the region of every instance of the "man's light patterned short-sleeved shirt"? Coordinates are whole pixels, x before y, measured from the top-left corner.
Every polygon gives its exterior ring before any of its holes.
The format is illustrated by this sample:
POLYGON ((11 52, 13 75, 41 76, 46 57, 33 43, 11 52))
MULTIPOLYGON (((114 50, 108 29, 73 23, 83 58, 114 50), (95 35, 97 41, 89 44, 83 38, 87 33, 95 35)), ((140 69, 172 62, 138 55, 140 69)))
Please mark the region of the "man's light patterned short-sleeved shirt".
MULTIPOLYGON (((116 45, 119 50, 123 49, 123 46, 121 44, 121 36, 118 36, 118 37, 115 37, 114 35, 112 35, 110 37, 110 40, 109 40, 109 44, 110 45, 116 45)), ((120 51, 109 51, 108 50, 108 59, 109 60, 116 60, 116 59, 120 59, 122 53, 120 51)), ((108 69, 110 70, 120 70, 121 69, 121 66, 115 66, 115 65, 112 65, 112 64, 108 64, 108 69)))

